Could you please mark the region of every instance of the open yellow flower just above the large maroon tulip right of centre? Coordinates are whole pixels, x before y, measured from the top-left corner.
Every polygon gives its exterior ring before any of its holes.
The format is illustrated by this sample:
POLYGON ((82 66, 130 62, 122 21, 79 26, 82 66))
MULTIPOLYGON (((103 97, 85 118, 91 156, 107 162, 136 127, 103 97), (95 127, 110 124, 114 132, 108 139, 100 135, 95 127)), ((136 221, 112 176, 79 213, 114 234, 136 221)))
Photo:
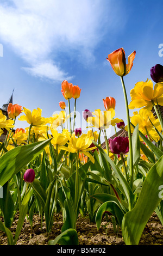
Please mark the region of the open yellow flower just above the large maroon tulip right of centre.
POLYGON ((98 129, 107 129, 110 125, 115 126, 116 123, 122 121, 122 119, 114 118, 115 110, 110 108, 109 111, 101 111, 100 109, 96 109, 95 112, 92 113, 95 117, 88 117, 88 123, 91 123, 93 127, 98 129))

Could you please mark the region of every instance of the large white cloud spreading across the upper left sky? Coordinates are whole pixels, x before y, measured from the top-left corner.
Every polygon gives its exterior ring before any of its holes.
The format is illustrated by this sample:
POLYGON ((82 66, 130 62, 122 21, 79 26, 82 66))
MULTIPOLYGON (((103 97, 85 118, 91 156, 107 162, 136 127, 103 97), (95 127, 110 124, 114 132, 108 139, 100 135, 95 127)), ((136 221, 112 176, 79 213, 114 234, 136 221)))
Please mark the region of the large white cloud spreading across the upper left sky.
MULTIPOLYGON (((0 36, 26 61, 29 74, 62 81, 59 54, 89 60, 108 27, 109 0, 10 0, 0 5, 0 36), (6 4, 6 3, 11 3, 6 4), (57 63, 57 64, 56 64, 57 63)), ((111 14, 111 13, 110 13, 111 14)), ((72 74, 73 76, 73 74, 72 74)))

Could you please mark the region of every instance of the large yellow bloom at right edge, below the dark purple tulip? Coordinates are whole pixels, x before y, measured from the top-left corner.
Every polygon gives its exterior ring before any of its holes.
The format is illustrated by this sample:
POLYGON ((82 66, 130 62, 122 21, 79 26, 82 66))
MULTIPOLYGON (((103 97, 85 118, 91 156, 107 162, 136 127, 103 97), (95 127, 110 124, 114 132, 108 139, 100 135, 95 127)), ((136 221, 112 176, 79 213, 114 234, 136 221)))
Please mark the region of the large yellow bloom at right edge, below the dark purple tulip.
POLYGON ((137 82, 130 91, 131 102, 130 109, 144 107, 148 111, 152 110, 153 103, 163 106, 163 83, 156 83, 153 89, 153 82, 137 82))

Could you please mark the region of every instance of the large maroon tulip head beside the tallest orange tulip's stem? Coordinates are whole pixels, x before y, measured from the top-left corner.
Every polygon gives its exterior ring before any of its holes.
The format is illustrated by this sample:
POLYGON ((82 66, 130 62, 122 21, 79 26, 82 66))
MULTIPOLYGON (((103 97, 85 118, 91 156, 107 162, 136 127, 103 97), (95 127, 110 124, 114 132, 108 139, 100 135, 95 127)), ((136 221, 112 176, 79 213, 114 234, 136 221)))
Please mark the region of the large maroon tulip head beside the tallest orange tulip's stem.
POLYGON ((129 140, 128 137, 115 137, 109 139, 110 150, 113 154, 126 154, 129 151, 129 140))

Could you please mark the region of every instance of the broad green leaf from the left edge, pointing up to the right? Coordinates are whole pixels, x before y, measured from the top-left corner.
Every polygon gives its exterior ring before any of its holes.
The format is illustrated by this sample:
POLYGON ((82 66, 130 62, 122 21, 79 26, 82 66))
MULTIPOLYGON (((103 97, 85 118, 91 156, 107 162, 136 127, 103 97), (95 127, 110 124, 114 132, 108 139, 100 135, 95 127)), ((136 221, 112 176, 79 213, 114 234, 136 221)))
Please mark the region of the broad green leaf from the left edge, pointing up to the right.
POLYGON ((51 139, 23 145, 5 153, 0 159, 0 185, 3 186, 14 174, 20 172, 27 166, 43 148, 48 145, 51 139))

